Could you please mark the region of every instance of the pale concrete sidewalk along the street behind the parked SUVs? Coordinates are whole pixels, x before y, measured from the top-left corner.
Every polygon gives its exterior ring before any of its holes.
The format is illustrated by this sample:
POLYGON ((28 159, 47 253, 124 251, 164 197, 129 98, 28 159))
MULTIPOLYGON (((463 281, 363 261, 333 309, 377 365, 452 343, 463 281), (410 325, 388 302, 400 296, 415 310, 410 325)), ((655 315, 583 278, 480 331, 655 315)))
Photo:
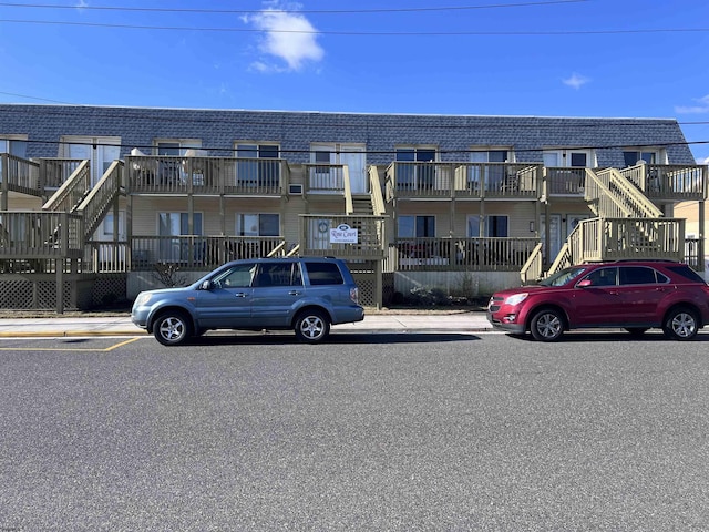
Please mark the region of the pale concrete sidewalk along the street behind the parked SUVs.
MULTIPOLYGON (((372 314, 332 326, 332 332, 475 332, 492 330, 485 313, 372 314)), ((130 316, 0 318, 0 338, 145 335, 130 316)))

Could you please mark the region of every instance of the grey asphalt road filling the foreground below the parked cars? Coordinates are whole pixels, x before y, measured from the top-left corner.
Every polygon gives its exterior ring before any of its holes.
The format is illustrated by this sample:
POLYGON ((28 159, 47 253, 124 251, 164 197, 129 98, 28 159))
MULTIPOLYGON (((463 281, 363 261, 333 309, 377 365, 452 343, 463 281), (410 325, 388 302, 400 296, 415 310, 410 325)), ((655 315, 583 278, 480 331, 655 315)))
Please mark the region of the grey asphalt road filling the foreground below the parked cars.
POLYGON ((709 528, 709 335, 0 341, 0 531, 709 528))

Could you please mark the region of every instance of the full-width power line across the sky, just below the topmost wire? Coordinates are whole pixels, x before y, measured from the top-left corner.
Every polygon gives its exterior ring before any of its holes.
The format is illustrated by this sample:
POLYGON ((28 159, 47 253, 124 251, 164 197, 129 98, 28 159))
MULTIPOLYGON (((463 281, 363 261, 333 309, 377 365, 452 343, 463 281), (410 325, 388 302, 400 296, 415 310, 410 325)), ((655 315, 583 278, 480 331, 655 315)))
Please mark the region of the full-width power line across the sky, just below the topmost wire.
POLYGON ((644 33, 706 33, 709 28, 655 28, 644 30, 542 30, 542 31, 320 31, 320 30, 275 30, 257 28, 197 28, 185 25, 140 25, 109 24, 101 22, 68 22, 55 20, 13 20, 0 19, 0 22, 42 25, 71 25, 84 28, 109 28, 158 31, 205 31, 229 33, 292 33, 341 37, 568 37, 568 35, 614 35, 644 33))

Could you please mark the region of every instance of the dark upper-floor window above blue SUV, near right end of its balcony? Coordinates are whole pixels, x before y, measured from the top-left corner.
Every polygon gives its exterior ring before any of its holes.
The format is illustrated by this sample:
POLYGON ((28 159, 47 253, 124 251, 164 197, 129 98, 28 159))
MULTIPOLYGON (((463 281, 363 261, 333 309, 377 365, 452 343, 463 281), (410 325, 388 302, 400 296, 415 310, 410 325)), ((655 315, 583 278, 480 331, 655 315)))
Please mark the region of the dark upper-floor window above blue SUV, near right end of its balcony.
POLYGON ((280 149, 277 144, 236 143, 236 184, 276 187, 280 184, 280 149))

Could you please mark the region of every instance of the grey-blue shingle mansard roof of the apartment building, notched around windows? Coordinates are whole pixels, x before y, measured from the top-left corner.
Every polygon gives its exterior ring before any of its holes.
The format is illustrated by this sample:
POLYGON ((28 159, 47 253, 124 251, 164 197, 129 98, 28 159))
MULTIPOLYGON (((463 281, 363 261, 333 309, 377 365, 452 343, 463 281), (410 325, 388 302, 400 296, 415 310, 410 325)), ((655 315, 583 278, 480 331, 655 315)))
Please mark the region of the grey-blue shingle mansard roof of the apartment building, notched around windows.
POLYGON ((548 147, 593 147, 599 166, 623 166, 623 147, 667 146, 672 164, 695 158, 674 119, 407 115, 289 111, 0 104, 0 135, 27 134, 30 157, 54 157, 62 135, 119 136, 122 154, 155 139, 199 139, 210 155, 234 141, 278 142, 284 157, 307 162, 312 142, 362 143, 368 162, 387 164, 400 145, 432 145, 443 161, 475 146, 510 146, 541 162, 548 147), (45 142, 41 142, 45 141, 45 142))

